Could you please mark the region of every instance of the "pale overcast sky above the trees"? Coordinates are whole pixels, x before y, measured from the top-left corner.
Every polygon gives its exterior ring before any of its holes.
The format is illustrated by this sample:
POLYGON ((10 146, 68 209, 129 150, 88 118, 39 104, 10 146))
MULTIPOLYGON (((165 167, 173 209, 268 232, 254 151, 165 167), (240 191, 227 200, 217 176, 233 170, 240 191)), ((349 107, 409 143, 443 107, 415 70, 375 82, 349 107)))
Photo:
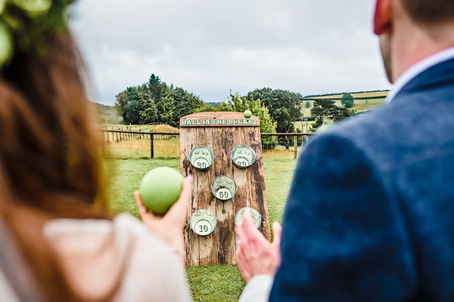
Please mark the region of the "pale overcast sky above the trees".
POLYGON ((271 87, 303 95, 389 88, 374 0, 79 0, 72 29, 106 105, 151 73, 226 99, 271 87))

